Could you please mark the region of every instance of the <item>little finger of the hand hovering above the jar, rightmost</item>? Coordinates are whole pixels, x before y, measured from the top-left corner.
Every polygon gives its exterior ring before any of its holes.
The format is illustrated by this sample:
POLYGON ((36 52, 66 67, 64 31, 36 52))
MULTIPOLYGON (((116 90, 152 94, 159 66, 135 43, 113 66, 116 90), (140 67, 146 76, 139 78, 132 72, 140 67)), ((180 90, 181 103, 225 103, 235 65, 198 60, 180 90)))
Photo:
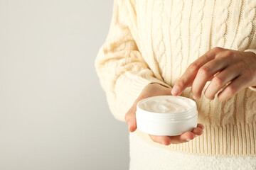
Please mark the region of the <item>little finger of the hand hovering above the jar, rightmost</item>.
POLYGON ((227 101, 229 98, 237 94, 238 91, 245 88, 246 84, 247 81, 245 77, 240 76, 234 79, 233 81, 231 81, 230 84, 228 84, 228 86, 225 86, 225 89, 223 89, 223 91, 220 91, 220 93, 218 94, 218 99, 220 101, 227 101))

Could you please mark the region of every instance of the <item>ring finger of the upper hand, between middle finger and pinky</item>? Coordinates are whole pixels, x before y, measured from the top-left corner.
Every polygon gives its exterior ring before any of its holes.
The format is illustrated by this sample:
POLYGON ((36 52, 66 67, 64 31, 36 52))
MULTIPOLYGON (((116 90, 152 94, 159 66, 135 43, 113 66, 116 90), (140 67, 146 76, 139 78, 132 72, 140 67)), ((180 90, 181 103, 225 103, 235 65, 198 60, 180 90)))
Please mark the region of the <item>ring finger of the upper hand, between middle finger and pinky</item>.
POLYGON ((240 69, 237 67, 228 67, 224 69, 222 72, 220 72, 217 76, 215 76, 212 81, 210 81, 210 84, 206 88, 206 91, 204 92, 204 95, 206 98, 213 100, 215 97, 215 94, 220 91, 220 89, 223 88, 228 82, 232 81, 238 75, 240 74, 240 69))

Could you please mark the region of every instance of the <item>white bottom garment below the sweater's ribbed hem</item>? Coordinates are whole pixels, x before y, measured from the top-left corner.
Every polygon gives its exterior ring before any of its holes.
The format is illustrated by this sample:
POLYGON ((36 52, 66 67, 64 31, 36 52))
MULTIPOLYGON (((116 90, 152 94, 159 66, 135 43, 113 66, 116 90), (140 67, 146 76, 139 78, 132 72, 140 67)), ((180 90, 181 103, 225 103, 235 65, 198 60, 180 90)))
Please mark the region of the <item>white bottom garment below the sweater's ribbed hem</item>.
POLYGON ((256 169, 256 157, 210 157, 155 147, 129 133, 129 170, 256 169))

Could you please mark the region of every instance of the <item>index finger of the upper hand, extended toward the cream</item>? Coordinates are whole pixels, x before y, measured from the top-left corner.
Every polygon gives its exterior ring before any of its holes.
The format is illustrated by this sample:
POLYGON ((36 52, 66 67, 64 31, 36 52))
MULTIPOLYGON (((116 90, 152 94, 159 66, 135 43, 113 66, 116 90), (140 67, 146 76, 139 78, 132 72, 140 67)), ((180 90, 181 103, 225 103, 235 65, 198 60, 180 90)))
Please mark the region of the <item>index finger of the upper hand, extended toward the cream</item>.
POLYGON ((186 87, 191 84, 193 79, 195 79, 198 69, 200 69, 210 60, 213 60, 215 58, 215 55, 222 50, 223 48, 221 47, 214 47, 212 50, 209 50, 208 52, 206 52, 206 54, 199 57, 198 60, 190 64, 186 71, 182 74, 181 78, 178 79, 174 84, 174 87, 171 90, 171 94, 173 96, 180 95, 186 89, 186 87))

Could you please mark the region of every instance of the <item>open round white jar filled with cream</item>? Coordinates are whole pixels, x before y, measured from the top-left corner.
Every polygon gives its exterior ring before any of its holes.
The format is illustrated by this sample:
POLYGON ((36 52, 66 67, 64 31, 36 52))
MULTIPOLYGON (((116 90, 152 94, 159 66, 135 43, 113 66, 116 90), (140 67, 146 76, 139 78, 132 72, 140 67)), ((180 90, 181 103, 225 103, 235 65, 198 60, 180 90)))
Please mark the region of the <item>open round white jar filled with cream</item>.
POLYGON ((153 96, 137 103, 137 128, 151 135, 175 136, 198 124, 196 102, 181 96, 153 96))

